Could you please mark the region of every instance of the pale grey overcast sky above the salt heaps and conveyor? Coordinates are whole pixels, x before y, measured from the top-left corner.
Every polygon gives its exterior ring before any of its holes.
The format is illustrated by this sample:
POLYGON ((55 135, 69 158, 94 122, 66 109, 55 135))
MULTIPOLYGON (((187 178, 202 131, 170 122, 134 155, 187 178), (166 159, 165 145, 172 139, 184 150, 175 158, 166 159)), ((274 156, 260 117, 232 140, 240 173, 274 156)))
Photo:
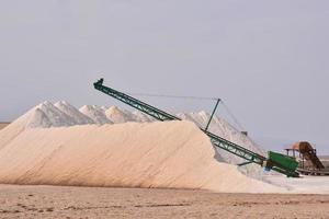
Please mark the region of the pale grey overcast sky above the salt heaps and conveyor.
POLYGON ((222 97, 252 136, 329 153, 327 0, 0 0, 0 120, 45 100, 117 104, 92 88, 104 77, 129 92, 222 97))

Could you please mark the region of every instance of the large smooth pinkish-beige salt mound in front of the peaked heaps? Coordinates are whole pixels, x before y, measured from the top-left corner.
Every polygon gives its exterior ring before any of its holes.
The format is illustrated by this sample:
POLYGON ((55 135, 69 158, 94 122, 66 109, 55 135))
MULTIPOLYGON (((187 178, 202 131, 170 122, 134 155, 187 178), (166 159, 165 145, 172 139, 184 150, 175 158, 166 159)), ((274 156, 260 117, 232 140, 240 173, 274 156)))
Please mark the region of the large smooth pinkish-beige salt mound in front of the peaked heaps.
POLYGON ((0 150, 0 183, 283 192, 214 155, 188 122, 26 129, 0 150))

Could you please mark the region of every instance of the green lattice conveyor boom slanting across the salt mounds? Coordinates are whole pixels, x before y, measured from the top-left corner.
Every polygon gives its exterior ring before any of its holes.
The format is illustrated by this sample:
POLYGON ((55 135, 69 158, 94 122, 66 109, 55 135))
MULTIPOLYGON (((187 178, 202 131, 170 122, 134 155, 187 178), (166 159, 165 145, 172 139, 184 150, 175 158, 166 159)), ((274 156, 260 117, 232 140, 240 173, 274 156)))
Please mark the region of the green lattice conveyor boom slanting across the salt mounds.
MULTIPOLYGON (((101 79, 98 82, 93 83, 94 89, 110 95, 113 96, 114 99, 134 107, 137 108, 138 111, 152 116, 154 118, 158 119, 158 120, 181 120, 181 118, 173 116, 171 114, 168 114, 159 108, 156 108, 155 106, 151 106, 147 103, 144 103, 137 99, 134 99, 123 92, 116 91, 114 89, 111 89, 109 87, 103 85, 104 80, 101 79)), ((219 103, 219 102, 217 102, 219 103)), ((217 105, 217 104, 216 104, 217 105)), ((254 153, 251 150, 248 150, 241 146, 238 146, 231 141, 228 141, 219 136, 216 136, 215 134, 212 134, 209 131, 207 131, 206 129, 200 128, 203 132, 205 132, 212 143, 223 150, 226 150, 237 157, 240 157, 242 159, 245 159, 246 161, 250 162, 250 163, 257 163, 261 166, 265 166, 266 163, 271 163, 268 162, 268 159, 261 154, 254 153)), ((268 168, 271 166, 272 170, 275 170, 280 173, 286 174, 286 175, 291 175, 291 171, 285 170, 285 166, 275 166, 275 163, 273 163, 273 165, 268 165, 268 168)), ((298 175, 298 173, 296 173, 298 175)))

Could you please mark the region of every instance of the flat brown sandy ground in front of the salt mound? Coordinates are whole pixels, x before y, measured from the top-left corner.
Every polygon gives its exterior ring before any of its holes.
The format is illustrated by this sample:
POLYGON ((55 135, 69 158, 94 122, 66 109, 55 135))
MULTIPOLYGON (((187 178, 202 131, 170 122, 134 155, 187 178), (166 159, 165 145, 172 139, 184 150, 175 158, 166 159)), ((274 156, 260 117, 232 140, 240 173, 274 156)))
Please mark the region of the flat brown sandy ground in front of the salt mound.
POLYGON ((0 218, 329 218, 329 195, 0 185, 0 218))

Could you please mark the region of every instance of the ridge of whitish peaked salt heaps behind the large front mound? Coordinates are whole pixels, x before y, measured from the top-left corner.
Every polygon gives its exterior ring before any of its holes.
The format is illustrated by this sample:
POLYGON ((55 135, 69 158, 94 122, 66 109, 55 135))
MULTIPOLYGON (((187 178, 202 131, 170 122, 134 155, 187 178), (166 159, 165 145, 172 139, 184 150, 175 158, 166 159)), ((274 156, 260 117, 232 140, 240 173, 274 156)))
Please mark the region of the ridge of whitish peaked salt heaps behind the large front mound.
MULTIPOLYGON (((177 116, 185 120, 191 120, 200 127, 205 127, 209 118, 209 114, 205 112, 182 113, 178 114, 177 116)), ((67 127, 83 124, 121 124, 127 122, 149 123, 155 122, 155 119, 138 111, 128 112, 116 106, 105 107, 84 105, 80 110, 77 110, 76 107, 64 101, 56 104, 44 102, 30 110, 26 114, 18 118, 13 124, 0 131, 0 139, 2 139, 0 142, 0 148, 3 142, 9 142, 21 131, 29 128, 67 127)), ((209 126, 209 130, 239 146, 242 146, 260 154, 264 154, 260 147, 252 142, 249 137, 242 135, 223 118, 215 116, 209 126)), ((238 158, 222 149, 216 148, 216 159, 219 161, 231 164, 245 162, 245 160, 242 160, 241 158, 238 158)), ((239 170, 245 174, 257 178, 261 178, 263 176, 262 169, 256 164, 245 165, 239 168, 239 170)))

